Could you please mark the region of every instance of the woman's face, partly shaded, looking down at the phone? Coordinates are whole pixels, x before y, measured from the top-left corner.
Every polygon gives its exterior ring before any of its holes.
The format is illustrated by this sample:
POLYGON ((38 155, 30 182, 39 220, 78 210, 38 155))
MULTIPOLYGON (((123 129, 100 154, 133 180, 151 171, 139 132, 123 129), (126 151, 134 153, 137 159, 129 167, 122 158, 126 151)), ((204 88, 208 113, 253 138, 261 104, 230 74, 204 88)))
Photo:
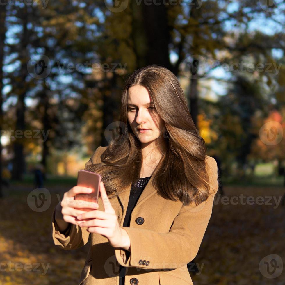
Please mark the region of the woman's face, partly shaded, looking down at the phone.
POLYGON ((156 112, 147 89, 135 85, 128 89, 127 94, 128 121, 133 133, 141 143, 151 143, 163 138, 165 123, 156 112), (139 129, 147 129, 140 132, 139 129))

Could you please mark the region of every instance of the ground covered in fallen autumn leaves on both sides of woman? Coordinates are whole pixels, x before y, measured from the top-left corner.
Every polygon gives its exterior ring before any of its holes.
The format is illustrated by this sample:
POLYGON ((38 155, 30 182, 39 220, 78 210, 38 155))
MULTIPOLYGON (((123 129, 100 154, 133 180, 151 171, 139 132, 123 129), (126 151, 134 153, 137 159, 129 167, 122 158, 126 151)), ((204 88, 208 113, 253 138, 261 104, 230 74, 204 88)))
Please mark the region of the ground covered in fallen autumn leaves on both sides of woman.
MULTIPOLYGON (((26 188, 20 195, 0 200, 0 284, 78 284, 89 244, 77 250, 62 250, 51 238, 51 215, 59 202, 56 193, 62 197, 63 189, 49 188, 51 206, 47 211, 35 212, 27 204, 26 188)), ((278 199, 283 192, 282 188, 224 187, 229 198, 243 194, 278 199)), ((215 197, 211 220, 194 259, 200 271, 190 273, 193 283, 285 284, 284 272, 268 279, 259 270, 259 262, 269 254, 285 260, 285 206, 276 207, 273 200, 273 205, 226 205, 221 198, 218 194, 215 197)))

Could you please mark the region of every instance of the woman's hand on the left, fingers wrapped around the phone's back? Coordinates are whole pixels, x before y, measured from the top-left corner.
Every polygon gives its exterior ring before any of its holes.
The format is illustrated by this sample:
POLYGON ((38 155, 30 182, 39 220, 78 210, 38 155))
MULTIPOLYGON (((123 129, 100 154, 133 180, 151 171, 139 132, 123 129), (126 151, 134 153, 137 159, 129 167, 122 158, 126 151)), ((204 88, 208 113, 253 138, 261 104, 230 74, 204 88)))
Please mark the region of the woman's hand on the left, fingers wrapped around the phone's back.
POLYGON ((91 188, 74 186, 69 191, 63 194, 63 199, 60 202, 61 214, 63 220, 74 225, 79 225, 82 220, 78 220, 76 217, 86 211, 82 211, 76 208, 91 208, 98 209, 98 204, 94 202, 84 201, 84 200, 75 200, 74 197, 77 194, 90 194, 92 192, 91 188))

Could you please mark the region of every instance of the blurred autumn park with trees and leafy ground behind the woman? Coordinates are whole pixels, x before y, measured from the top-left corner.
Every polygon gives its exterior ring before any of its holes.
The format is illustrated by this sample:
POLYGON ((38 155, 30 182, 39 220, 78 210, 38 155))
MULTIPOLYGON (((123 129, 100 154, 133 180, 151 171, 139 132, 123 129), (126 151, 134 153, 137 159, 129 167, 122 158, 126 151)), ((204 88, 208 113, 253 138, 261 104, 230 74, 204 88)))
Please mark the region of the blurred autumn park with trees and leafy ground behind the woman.
POLYGON ((88 245, 56 248, 51 214, 115 134, 126 77, 150 64, 177 76, 219 167, 194 284, 285 284, 284 12, 282 0, 1 0, 0 284, 77 284, 88 245))

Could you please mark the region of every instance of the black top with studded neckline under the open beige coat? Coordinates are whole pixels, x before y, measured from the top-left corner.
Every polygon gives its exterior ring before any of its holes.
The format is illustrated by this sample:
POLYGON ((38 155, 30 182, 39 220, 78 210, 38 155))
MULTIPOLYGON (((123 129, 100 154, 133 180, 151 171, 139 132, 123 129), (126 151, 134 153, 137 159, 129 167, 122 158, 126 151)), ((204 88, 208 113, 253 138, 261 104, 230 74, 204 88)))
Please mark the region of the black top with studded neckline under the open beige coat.
MULTIPOLYGON (((136 203, 138 202, 138 198, 140 197, 141 193, 145 189, 145 186, 147 185, 147 182, 149 181, 150 177, 151 176, 140 177, 136 182, 132 183, 129 203, 128 203, 128 207, 126 211, 126 216, 124 218, 123 227, 130 226, 131 213, 133 211, 133 208, 136 206, 136 203)), ((126 250, 127 259, 129 258, 129 256, 130 256, 130 252, 126 250)), ((120 265, 119 272, 120 272, 119 285, 122 285, 125 282, 126 268, 120 265)))

